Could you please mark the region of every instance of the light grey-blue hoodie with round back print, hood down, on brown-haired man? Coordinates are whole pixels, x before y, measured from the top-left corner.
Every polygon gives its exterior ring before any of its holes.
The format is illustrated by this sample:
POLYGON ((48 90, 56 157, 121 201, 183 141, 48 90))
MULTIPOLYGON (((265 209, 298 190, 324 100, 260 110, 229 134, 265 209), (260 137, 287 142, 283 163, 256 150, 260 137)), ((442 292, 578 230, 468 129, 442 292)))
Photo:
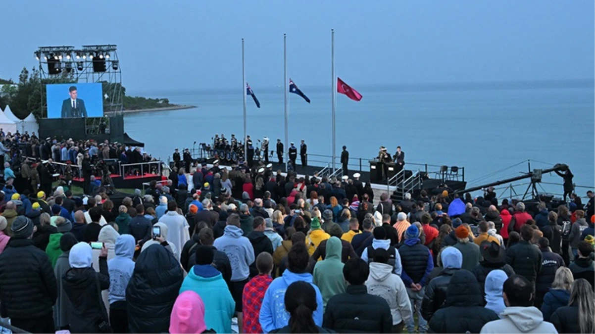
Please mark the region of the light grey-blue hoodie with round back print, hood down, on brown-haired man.
POLYGON ((241 228, 227 225, 223 230, 223 235, 217 238, 213 244, 217 250, 223 251, 229 257, 231 282, 248 279, 250 275, 249 266, 254 263, 254 248, 250 244, 250 240, 243 237, 243 234, 241 228))

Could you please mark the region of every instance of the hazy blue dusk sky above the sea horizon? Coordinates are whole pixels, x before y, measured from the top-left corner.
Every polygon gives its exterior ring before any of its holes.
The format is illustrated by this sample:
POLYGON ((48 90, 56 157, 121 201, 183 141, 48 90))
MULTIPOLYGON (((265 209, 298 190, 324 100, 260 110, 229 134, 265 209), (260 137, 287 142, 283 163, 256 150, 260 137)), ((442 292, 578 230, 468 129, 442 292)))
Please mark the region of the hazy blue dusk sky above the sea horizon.
POLYGON ((39 46, 116 44, 133 91, 595 78, 595 1, 10 1, 0 78, 39 46))

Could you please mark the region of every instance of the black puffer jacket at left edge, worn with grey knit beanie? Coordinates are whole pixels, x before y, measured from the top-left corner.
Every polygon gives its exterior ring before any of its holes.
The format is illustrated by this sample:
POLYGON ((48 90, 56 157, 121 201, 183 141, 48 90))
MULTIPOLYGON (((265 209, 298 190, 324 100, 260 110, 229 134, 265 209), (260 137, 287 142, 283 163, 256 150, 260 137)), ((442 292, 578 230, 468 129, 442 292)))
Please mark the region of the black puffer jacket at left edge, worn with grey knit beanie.
POLYGON ((8 241, 0 254, 0 299, 13 319, 52 314, 58 286, 48 254, 30 239, 8 241))

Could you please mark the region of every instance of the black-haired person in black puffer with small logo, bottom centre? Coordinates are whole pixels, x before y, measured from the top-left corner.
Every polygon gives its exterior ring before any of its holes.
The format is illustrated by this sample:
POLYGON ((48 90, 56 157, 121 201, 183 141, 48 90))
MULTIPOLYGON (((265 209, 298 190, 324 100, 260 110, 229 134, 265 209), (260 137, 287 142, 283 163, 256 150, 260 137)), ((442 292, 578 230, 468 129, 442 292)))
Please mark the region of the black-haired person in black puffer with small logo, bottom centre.
POLYGON ((346 292, 330 298, 322 327, 340 333, 392 333, 389 304, 384 298, 369 294, 365 285, 368 264, 362 259, 350 259, 343 267, 343 276, 348 283, 346 292))

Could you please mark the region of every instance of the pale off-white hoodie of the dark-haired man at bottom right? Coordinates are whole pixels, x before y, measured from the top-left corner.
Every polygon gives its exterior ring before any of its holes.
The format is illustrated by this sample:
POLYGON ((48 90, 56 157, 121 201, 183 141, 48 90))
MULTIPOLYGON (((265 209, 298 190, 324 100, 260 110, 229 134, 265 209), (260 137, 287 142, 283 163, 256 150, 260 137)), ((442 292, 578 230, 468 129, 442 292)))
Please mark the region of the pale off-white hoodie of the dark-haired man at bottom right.
POLYGON ((543 321, 537 307, 506 307, 500 320, 484 324, 480 334, 557 334, 553 324, 543 321))

